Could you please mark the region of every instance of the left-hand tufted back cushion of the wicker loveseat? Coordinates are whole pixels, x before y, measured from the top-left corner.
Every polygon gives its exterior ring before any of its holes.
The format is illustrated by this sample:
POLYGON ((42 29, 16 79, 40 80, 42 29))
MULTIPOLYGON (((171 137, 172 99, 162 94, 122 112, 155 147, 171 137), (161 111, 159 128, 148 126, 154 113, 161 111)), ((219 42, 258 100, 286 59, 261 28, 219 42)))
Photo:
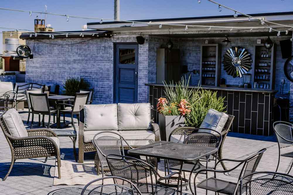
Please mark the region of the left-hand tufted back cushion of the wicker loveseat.
POLYGON ((84 105, 84 131, 118 130, 117 104, 84 105))

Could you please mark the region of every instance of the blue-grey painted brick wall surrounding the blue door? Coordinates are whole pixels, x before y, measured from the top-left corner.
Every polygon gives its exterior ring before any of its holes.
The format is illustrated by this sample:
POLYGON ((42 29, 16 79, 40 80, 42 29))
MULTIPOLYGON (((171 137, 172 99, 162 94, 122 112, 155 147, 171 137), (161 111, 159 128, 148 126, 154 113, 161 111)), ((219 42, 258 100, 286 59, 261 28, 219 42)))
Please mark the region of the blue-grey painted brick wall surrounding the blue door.
MULTIPOLYGON (((52 45, 27 40, 34 58, 26 64, 26 82, 59 84, 67 77, 84 77, 94 89, 93 103, 113 103, 113 42, 135 42, 137 35, 93 39, 74 45, 52 45)), ((44 39, 72 44, 84 39, 44 39)), ((139 45, 138 101, 148 102, 148 42, 139 45)))

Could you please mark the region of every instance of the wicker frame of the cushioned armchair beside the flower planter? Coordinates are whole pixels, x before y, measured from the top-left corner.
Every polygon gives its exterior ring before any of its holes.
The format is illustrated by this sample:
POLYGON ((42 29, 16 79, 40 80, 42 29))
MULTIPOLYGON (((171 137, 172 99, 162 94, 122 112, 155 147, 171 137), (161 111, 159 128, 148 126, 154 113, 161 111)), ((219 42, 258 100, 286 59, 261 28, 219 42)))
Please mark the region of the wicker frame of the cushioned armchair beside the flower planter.
MULTIPOLYGON (((232 125, 232 122, 234 120, 234 116, 233 115, 228 115, 228 116, 229 116, 228 117, 228 120, 226 121, 225 126, 224 126, 224 128, 223 128, 223 130, 221 132, 222 142, 221 142, 221 144, 219 146, 219 150, 218 150, 218 156, 217 156, 217 159, 218 160, 221 160, 223 158, 222 150, 223 150, 224 141, 226 139, 226 136, 227 136, 227 134, 229 132, 229 129, 230 129, 231 125, 232 125)), ((194 127, 178 127, 178 128, 174 129, 171 132, 168 141, 171 140, 171 136, 172 135, 181 136, 185 132, 186 132, 186 135, 188 135, 188 134, 192 134, 193 132, 197 132, 197 131, 198 131, 198 128, 194 128, 194 127)), ((184 139, 184 137, 183 137, 183 139, 184 139)), ((227 170, 227 168, 226 168, 226 166, 225 166, 225 164, 224 164, 223 161, 221 161, 221 165, 222 165, 222 167, 223 167, 224 170, 227 170)))

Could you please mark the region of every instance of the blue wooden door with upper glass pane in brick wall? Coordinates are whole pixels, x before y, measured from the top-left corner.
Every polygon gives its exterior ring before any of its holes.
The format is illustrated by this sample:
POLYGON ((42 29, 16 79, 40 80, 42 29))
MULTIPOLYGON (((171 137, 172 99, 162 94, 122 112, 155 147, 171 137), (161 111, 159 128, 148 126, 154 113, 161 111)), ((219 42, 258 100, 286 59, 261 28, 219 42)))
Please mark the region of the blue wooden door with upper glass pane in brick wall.
POLYGON ((115 102, 137 103, 138 45, 117 44, 115 49, 115 102))

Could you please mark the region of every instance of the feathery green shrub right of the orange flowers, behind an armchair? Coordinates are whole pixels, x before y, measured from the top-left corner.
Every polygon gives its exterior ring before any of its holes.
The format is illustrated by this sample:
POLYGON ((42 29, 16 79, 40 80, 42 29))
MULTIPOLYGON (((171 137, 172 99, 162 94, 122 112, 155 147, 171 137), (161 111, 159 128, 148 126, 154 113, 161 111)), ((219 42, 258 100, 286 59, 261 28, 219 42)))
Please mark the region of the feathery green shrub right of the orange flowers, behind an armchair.
POLYGON ((185 118, 185 125, 188 127, 200 127, 210 108, 219 112, 223 112, 226 108, 223 102, 224 97, 217 98, 217 92, 210 90, 199 90, 193 93, 192 99, 195 99, 197 103, 192 103, 191 112, 185 118))

